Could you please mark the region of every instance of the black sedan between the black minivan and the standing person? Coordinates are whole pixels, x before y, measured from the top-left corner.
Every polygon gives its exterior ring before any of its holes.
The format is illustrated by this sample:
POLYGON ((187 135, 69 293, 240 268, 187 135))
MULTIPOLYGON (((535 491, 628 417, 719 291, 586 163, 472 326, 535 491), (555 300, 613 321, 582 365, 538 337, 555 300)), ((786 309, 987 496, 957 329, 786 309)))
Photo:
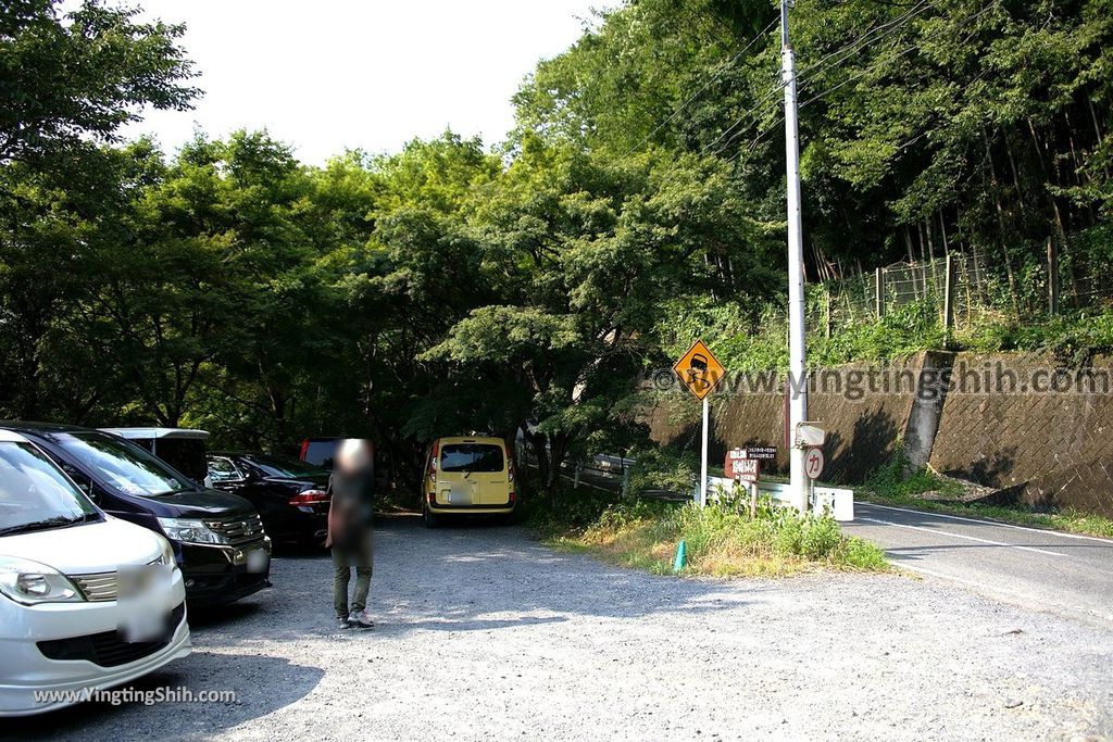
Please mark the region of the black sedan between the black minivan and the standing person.
POLYGON ((213 485, 252 503, 276 542, 321 545, 328 527, 328 471, 288 456, 214 452, 213 485))

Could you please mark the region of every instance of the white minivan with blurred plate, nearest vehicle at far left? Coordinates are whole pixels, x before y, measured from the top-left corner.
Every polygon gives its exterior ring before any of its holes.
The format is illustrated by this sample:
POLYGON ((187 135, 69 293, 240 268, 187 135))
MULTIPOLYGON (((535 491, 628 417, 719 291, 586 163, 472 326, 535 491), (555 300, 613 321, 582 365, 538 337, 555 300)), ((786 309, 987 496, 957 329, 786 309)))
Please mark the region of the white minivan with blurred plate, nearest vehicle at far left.
POLYGON ((169 542, 0 431, 0 716, 78 703, 189 651, 169 542))

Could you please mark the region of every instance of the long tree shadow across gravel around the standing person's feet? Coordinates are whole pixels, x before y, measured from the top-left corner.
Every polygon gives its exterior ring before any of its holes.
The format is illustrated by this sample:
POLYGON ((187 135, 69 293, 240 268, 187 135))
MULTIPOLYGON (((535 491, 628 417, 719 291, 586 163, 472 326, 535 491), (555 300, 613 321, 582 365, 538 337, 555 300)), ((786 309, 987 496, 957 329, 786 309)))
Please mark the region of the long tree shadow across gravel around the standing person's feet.
POLYGON ((677 580, 564 554, 522 527, 464 520, 429 530, 416 515, 375 524, 371 632, 336 625, 327 553, 278 556, 274 587, 190 614, 194 645, 244 651, 259 642, 395 641, 414 631, 529 631, 573 616, 601 620, 735 610, 762 600, 761 583, 729 590, 715 580, 677 580))

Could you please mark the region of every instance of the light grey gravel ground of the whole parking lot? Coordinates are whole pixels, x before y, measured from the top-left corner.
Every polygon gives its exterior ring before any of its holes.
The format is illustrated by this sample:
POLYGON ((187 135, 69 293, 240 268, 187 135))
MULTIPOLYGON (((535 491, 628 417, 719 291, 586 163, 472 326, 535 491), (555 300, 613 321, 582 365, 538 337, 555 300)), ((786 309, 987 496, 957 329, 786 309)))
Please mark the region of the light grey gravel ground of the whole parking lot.
POLYGON ((191 617, 137 685, 236 703, 90 705, 6 723, 61 740, 1093 739, 1113 633, 892 575, 659 577, 520 528, 376 534, 372 632, 334 629, 323 554, 191 617))

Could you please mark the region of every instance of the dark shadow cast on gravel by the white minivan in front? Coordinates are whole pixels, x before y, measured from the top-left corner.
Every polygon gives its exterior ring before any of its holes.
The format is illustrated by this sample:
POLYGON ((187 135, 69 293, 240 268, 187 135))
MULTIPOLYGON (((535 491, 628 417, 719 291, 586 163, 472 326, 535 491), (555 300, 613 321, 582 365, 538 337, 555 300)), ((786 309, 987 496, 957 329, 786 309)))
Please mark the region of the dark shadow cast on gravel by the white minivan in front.
POLYGON ((316 687, 323 675, 319 667, 290 664, 280 657, 213 654, 195 646, 188 657, 116 690, 155 693, 185 687, 195 699, 198 693, 234 691, 235 702, 147 705, 121 695, 119 705, 82 703, 38 716, 4 720, 2 729, 4 736, 20 740, 209 738, 298 701, 316 687))

